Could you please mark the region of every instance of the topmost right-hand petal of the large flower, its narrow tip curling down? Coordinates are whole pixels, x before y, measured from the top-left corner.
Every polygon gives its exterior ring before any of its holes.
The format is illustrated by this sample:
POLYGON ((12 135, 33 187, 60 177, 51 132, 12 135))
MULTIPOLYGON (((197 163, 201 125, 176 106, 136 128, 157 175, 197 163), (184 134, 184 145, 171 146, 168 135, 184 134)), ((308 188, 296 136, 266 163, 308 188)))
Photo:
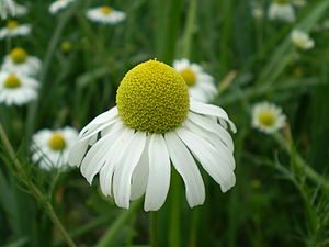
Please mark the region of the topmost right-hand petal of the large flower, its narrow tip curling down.
POLYGON ((227 113, 217 105, 204 104, 192 101, 190 104, 190 110, 200 114, 214 115, 219 119, 223 119, 229 124, 232 132, 237 132, 236 125, 228 119, 227 113))

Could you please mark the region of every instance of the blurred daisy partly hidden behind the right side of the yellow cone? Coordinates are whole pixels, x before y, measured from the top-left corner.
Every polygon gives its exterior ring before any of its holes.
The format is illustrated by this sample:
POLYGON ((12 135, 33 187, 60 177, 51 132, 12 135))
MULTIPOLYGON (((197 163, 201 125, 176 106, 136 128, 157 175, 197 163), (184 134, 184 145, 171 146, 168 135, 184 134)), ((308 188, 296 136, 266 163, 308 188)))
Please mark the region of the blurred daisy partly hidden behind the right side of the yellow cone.
POLYGON ((204 72, 198 65, 183 58, 174 60, 173 68, 189 86, 190 96, 193 100, 208 102, 216 96, 217 89, 214 85, 214 78, 204 72))

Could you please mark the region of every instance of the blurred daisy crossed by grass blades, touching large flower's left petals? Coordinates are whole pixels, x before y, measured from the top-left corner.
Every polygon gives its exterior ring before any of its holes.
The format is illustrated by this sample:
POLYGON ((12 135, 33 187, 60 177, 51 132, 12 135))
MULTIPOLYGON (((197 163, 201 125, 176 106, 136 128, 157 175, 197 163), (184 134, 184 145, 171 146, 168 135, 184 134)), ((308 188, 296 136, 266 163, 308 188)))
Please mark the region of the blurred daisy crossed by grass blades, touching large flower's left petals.
POLYGON ((77 130, 69 126, 41 130, 32 137, 32 160, 45 170, 68 168, 68 153, 77 138, 77 130))

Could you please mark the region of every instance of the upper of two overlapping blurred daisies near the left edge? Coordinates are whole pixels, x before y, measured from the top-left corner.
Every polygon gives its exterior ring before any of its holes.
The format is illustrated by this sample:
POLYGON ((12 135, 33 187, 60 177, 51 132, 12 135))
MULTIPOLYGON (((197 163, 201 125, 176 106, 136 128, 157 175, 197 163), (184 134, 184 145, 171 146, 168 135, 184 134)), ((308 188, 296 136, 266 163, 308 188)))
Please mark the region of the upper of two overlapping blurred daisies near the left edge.
POLYGON ((9 72, 20 72, 35 76, 41 68, 41 60, 30 56, 23 48, 14 48, 4 57, 2 69, 9 72))

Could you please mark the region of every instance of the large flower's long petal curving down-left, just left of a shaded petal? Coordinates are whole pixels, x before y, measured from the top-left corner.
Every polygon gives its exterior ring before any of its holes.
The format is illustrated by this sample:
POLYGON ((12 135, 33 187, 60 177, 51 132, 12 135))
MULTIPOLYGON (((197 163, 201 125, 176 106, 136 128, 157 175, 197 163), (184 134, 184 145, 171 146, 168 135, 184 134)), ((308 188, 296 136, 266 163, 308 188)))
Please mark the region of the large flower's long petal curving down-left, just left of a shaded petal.
POLYGON ((113 192, 115 203, 121 207, 129 207, 132 176, 144 150, 145 143, 146 133, 136 132, 124 149, 124 155, 117 161, 120 165, 115 167, 113 192))

